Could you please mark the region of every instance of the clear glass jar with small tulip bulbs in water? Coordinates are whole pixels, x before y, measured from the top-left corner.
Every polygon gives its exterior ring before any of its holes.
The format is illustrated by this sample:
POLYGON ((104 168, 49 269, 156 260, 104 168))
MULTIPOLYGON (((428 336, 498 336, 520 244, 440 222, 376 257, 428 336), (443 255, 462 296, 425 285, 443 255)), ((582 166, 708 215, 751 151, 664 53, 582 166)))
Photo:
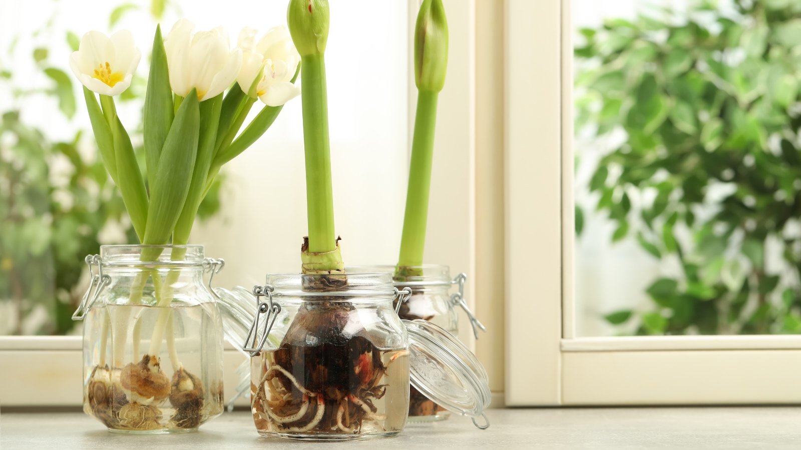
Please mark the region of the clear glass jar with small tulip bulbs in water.
POLYGON ((73 319, 83 411, 112 432, 188 432, 223 412, 223 340, 203 247, 102 246, 73 319))

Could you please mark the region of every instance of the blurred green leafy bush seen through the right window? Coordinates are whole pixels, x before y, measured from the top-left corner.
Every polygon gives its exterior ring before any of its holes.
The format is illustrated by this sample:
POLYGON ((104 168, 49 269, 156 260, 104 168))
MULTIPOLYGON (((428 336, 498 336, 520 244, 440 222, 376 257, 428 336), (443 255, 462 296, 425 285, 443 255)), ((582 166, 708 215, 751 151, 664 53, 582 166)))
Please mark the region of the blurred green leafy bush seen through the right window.
POLYGON ((590 207, 613 242, 678 267, 650 283, 650 308, 606 321, 801 332, 801 2, 692 2, 580 33, 577 130, 626 136, 594 168, 590 207))

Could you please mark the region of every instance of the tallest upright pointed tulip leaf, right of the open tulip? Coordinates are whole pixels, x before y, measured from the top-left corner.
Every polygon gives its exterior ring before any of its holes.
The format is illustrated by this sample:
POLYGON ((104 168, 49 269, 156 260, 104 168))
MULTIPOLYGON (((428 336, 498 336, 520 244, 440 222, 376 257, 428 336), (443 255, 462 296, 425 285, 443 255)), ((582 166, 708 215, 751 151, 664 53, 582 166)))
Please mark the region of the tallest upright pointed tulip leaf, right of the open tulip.
POLYGON ((167 71, 167 54, 161 37, 161 26, 156 26, 153 38, 150 75, 144 106, 144 147, 147 165, 147 185, 152 189, 164 141, 174 119, 170 75, 167 71))

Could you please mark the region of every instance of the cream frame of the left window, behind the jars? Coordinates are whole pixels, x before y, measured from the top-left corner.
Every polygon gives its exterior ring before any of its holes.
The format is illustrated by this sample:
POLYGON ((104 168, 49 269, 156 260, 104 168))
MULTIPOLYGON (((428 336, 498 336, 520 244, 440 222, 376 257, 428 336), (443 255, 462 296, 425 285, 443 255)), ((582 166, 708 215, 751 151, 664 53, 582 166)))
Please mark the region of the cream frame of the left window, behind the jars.
MULTIPOLYGON (((409 4, 409 144, 417 102, 414 84, 413 38, 417 10, 422 0, 409 4)), ((449 21, 448 82, 437 110, 436 175, 429 203, 429 231, 425 258, 447 264, 456 275, 476 273, 475 184, 475 10, 485 0, 445 0, 449 21)), ((330 86, 329 86, 330 87, 330 86)), ((411 152, 411 148, 409 148, 411 152)), ((406 170, 399 168, 399 170, 406 170)), ((403 207, 399 205, 398 207, 403 207)), ((474 311, 475 278, 469 276, 465 299, 474 311)), ((460 314, 460 337, 475 349, 472 328, 460 314)), ((500 331, 497 331, 500 332, 500 331)), ((77 407, 82 402, 83 344, 80 336, 0 336, 0 407, 77 407)), ((225 398, 239 384, 236 368, 244 360, 225 343, 225 398)), ((237 405, 247 405, 240 398, 237 405)))

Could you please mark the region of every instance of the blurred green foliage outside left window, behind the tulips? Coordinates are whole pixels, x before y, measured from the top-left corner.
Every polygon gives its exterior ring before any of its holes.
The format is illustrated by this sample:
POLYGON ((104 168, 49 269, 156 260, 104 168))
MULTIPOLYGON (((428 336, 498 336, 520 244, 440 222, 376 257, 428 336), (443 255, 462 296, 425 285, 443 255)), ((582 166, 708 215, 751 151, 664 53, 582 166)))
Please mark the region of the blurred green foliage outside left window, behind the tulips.
MULTIPOLYGON (((162 14, 166 2, 154 0, 152 17, 162 14)), ((137 10, 126 4, 112 10, 109 22, 114 26, 123 14, 137 10)), ((42 30, 52 26, 52 18, 42 30)), ((10 43, 6 57, 13 58, 18 42, 35 40, 41 30, 31 36, 17 36, 10 43)), ((66 43, 77 50, 78 34, 66 33, 66 43)), ((8 90, 18 107, 0 111, 0 303, 10 303, 14 318, 11 334, 22 333, 22 323, 37 307, 44 307, 45 325, 37 334, 66 334, 74 323, 70 316, 78 306, 83 289, 81 275, 85 271, 84 256, 99 252, 99 235, 105 227, 118 227, 126 236, 123 242, 138 243, 119 191, 109 179, 90 139, 83 131, 65 142, 52 142, 43 127, 21 120, 20 108, 36 96, 50 96, 66 119, 76 114, 74 77, 54 64, 66 62, 66 54, 50 54, 47 46, 34 48, 31 66, 50 81, 50 86, 33 88, 14 80, 10 68, 0 66, 0 87, 8 90), (87 155, 90 155, 87 157, 87 155)), ((4 58, 0 58, 2 62, 4 58)), ((23 80, 27 81, 27 80, 23 80)), ((77 81, 75 82, 77 83, 77 81)), ((120 100, 141 104, 145 81, 135 77, 120 100)), ((141 125, 131 138, 141 143, 141 125)), ((91 133, 89 134, 91 136, 91 133)), ((141 144, 136 149, 143 159, 141 144)), ((222 178, 211 188, 199 208, 199 218, 207 219, 219 211, 219 188, 222 178)))

